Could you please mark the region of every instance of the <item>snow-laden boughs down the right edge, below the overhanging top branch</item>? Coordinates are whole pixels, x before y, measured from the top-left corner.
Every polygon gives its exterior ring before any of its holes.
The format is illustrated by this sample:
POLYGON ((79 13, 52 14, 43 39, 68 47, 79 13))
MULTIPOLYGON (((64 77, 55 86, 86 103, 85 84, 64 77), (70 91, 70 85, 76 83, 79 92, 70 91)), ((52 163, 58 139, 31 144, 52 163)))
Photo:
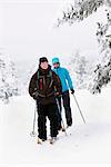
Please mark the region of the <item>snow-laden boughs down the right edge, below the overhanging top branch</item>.
POLYGON ((97 39, 101 57, 90 88, 93 94, 101 92, 101 88, 111 81, 111 9, 105 11, 107 22, 98 22, 97 39))

